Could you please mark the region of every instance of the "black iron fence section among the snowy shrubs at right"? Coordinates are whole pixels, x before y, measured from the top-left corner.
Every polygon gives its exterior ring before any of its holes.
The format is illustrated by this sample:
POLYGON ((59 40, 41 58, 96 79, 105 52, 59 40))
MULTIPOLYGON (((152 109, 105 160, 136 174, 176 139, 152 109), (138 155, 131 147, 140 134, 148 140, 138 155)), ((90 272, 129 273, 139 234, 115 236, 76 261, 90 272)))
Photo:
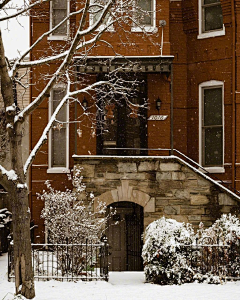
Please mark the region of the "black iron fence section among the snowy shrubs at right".
POLYGON ((240 279, 239 241, 214 241, 205 237, 189 244, 181 244, 181 250, 195 274, 217 275, 224 279, 240 279))

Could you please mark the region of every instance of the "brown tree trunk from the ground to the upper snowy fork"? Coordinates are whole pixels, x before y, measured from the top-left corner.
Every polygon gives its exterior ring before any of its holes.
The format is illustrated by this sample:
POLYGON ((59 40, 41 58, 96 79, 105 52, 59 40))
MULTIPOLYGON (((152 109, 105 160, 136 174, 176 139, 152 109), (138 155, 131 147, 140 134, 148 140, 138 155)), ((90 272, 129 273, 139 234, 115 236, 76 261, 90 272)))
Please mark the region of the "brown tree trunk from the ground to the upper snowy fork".
POLYGON ((30 208, 26 176, 23 172, 21 124, 14 125, 9 138, 12 168, 18 176, 18 184, 10 191, 10 199, 13 203, 15 287, 16 294, 21 294, 27 299, 32 299, 35 297, 35 289, 31 255, 30 208))

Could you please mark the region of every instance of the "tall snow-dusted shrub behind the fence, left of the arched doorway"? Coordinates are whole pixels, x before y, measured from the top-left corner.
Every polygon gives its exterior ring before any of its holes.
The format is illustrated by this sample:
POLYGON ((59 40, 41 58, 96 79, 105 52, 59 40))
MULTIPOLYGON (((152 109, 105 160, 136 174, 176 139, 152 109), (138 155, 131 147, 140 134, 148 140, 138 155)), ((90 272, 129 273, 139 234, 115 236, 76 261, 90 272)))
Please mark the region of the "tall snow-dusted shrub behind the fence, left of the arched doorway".
MULTIPOLYGON (((86 241, 99 243, 108 219, 106 205, 99 202, 96 211, 93 211, 93 203, 96 200, 92 193, 86 197, 81 169, 75 168, 69 179, 72 181, 73 190, 55 190, 47 181, 47 190, 38 195, 45 202, 41 217, 44 218, 48 232, 48 242, 53 244, 85 244, 86 241), (85 197, 81 198, 81 195, 85 197)), ((80 248, 81 250, 73 247, 71 251, 67 251, 67 247, 64 246, 63 250, 57 247, 62 274, 81 273, 88 265, 88 261, 92 261, 92 256, 95 256, 95 250, 88 253, 86 246, 80 248)))

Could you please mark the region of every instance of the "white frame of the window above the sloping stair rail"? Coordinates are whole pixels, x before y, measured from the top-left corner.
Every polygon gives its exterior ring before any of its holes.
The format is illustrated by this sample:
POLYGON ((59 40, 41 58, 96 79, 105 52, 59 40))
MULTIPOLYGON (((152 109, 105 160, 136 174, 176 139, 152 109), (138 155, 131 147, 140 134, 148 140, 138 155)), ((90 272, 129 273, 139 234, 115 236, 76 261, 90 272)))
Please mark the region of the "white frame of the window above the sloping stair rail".
MULTIPOLYGON (((225 149, 224 149, 224 140, 225 140, 225 130, 224 130, 224 82, 217 81, 217 80, 210 80, 202 82, 199 85, 199 164, 202 166, 203 163, 203 141, 202 141, 202 122, 203 122, 203 96, 204 96, 204 89, 205 88, 222 88, 222 128, 223 128, 223 135, 222 135, 222 149, 223 149, 223 165, 216 166, 216 167, 203 167, 209 173, 225 173, 224 168, 224 156, 225 156, 225 149)), ((201 170, 201 168, 200 168, 201 170)))

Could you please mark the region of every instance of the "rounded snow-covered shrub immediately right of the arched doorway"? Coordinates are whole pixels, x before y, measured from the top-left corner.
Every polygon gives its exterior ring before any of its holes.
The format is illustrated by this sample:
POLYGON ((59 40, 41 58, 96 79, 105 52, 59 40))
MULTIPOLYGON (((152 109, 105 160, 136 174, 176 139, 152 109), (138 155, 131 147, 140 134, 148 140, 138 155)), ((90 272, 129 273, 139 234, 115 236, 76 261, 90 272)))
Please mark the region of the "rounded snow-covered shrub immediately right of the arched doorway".
POLYGON ((158 284, 191 282, 194 272, 183 244, 191 244, 194 231, 191 224, 172 219, 152 222, 144 233, 142 257, 147 281, 158 284))

